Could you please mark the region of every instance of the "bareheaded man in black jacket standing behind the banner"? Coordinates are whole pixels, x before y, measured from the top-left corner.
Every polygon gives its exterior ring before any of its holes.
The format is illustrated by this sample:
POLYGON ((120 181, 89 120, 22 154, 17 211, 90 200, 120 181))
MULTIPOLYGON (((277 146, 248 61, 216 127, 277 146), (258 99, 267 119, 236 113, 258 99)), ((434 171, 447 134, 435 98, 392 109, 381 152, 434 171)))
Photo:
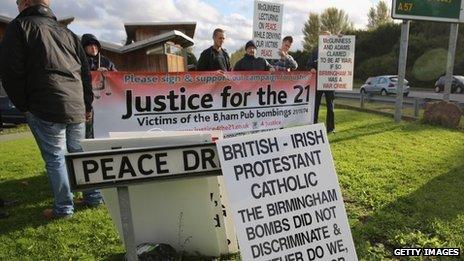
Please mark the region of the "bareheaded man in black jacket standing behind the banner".
POLYGON ((226 33, 221 28, 213 32, 213 46, 204 50, 198 59, 198 71, 230 71, 230 58, 227 51, 222 48, 226 33))

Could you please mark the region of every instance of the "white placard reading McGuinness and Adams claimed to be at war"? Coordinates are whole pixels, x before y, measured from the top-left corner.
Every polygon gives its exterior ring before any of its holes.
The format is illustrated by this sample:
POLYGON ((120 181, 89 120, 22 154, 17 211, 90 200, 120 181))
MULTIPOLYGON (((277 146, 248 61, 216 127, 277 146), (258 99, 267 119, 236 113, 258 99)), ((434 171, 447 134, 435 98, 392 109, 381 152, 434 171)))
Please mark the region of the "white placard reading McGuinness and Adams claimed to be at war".
POLYGON ((353 90, 355 41, 354 35, 319 36, 318 90, 353 90))

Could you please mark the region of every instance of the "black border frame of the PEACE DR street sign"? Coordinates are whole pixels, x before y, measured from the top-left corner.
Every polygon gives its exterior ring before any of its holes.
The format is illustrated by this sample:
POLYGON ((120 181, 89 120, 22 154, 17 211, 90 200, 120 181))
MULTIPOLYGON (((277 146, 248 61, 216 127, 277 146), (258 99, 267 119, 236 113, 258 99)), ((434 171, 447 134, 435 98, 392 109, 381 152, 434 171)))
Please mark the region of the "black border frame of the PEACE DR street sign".
POLYGON ((151 176, 151 177, 135 178, 135 179, 121 180, 121 181, 114 180, 114 181, 99 182, 99 183, 92 183, 92 184, 86 184, 86 185, 79 185, 76 180, 74 160, 77 160, 77 159, 89 158, 89 157, 111 156, 111 155, 134 154, 134 153, 143 153, 143 152, 179 150, 179 149, 189 149, 189 148, 211 148, 216 151, 215 158, 217 158, 219 162, 219 158, 218 158, 219 155, 217 154, 215 143, 194 144, 194 145, 184 145, 184 146, 168 146, 168 147, 155 146, 155 147, 149 147, 149 148, 130 148, 130 149, 115 149, 115 150, 106 150, 106 151, 72 153, 72 154, 65 155, 69 184, 71 186, 72 191, 83 191, 87 189, 125 187, 128 185, 137 185, 137 184, 142 184, 145 182, 172 180, 172 179, 179 179, 179 178, 208 177, 208 176, 222 175, 221 166, 219 164, 217 169, 214 169, 214 170, 168 174, 168 175, 162 175, 158 177, 151 176))

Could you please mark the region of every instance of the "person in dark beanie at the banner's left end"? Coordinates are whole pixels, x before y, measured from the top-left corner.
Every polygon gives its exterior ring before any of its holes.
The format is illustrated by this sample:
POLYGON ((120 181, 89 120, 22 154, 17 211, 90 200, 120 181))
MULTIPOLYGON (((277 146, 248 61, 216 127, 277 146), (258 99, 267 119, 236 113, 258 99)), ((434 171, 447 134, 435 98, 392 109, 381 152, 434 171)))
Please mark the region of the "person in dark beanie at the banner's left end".
POLYGON ((93 34, 84 34, 81 39, 91 71, 116 71, 114 64, 100 54, 101 44, 93 34))

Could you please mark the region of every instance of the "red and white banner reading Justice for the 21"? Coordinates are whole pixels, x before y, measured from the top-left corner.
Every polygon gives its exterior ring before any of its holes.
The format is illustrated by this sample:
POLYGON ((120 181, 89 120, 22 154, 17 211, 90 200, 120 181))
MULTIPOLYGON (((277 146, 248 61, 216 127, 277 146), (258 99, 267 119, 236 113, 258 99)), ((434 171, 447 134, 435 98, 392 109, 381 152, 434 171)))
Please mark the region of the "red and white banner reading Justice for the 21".
POLYGON ((94 73, 96 138, 110 132, 222 131, 226 137, 313 122, 308 72, 94 73))

